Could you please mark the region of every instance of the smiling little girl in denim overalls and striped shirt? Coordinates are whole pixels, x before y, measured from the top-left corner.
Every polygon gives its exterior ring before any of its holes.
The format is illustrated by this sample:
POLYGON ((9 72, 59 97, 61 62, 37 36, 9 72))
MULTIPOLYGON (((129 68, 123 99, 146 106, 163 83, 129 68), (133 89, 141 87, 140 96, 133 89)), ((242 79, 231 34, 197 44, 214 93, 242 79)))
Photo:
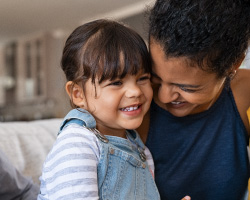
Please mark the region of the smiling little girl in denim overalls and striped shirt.
POLYGON ((151 154, 133 130, 152 99, 143 39, 92 21, 69 36, 61 65, 75 109, 44 163, 38 199, 160 199, 151 154))

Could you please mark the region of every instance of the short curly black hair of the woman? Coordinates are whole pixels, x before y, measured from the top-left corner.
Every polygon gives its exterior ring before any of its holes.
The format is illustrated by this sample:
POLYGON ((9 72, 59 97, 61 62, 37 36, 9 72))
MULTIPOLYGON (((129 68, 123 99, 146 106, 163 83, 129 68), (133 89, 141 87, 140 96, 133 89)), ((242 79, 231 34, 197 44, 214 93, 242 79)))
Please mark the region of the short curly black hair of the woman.
POLYGON ((250 1, 156 0, 149 27, 166 57, 187 57, 224 77, 248 48, 250 1))

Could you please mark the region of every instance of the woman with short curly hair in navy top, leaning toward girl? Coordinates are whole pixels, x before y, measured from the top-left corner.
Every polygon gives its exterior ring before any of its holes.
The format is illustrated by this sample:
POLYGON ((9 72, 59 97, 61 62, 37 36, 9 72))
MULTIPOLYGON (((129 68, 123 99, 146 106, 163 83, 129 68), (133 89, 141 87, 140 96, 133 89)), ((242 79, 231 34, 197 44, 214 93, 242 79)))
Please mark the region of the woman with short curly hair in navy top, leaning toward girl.
POLYGON ((249 1, 156 1, 149 30, 154 100, 139 132, 161 199, 245 197, 250 71, 239 67, 249 38, 249 1))

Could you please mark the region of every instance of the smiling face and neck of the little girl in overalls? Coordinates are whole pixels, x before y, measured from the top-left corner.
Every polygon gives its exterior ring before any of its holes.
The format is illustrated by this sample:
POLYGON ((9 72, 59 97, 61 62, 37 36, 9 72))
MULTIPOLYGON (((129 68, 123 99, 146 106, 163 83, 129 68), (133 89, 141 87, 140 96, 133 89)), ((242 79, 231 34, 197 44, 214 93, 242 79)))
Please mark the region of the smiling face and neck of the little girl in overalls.
POLYGON ((127 75, 106 80, 96 87, 89 79, 85 84, 87 109, 96 119, 102 134, 124 137, 124 129, 136 129, 149 109, 153 91, 150 74, 127 75))

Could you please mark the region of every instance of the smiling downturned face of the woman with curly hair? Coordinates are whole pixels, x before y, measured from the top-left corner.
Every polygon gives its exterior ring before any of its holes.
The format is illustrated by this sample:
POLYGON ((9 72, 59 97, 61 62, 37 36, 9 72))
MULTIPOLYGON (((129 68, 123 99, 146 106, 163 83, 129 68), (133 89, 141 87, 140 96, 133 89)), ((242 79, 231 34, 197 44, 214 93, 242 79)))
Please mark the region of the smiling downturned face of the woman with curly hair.
POLYGON ((184 57, 166 59, 161 46, 151 41, 154 100, 177 117, 205 111, 218 98, 225 78, 190 67, 184 57))

